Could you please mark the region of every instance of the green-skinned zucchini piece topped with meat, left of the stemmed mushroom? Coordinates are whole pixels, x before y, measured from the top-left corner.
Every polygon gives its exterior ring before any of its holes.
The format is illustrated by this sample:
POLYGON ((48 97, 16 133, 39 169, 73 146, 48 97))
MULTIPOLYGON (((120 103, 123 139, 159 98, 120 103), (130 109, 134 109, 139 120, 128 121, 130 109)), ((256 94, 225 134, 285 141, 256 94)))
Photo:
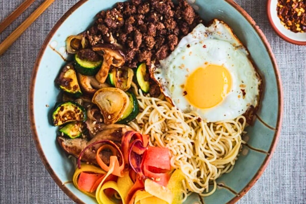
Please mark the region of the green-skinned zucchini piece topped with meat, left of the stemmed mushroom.
POLYGON ((86 59, 81 60, 79 55, 74 55, 74 61, 76 63, 76 71, 83 75, 93 76, 95 75, 102 65, 102 60, 89 61, 86 59))

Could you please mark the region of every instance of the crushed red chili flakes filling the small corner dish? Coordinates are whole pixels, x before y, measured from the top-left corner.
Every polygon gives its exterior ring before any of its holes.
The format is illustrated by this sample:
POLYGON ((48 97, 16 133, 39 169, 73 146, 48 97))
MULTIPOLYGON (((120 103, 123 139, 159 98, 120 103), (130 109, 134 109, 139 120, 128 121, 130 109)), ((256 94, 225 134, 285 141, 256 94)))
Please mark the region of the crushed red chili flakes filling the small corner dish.
POLYGON ((306 3, 303 0, 278 0, 277 16, 292 32, 306 32, 306 3))

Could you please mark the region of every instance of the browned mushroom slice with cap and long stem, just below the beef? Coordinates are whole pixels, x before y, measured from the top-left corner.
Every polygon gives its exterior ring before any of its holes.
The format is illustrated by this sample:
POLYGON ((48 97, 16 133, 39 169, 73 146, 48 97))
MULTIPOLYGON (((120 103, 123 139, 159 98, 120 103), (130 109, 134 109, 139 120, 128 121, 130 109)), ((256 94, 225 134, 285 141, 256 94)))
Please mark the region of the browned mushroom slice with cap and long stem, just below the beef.
POLYGON ((97 44, 92 47, 92 50, 103 56, 103 63, 99 72, 95 75, 100 83, 104 83, 110 66, 120 67, 124 65, 125 55, 116 46, 111 44, 97 44))

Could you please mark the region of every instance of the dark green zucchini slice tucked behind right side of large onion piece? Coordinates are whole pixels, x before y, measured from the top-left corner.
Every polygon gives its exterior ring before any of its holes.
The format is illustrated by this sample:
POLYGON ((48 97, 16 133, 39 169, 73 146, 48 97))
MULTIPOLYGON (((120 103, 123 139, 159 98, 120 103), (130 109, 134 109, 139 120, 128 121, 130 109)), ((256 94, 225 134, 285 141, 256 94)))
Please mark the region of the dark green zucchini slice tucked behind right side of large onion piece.
POLYGON ((129 96, 130 103, 128 108, 123 113, 123 116, 117 122, 119 124, 126 124, 134 120, 139 113, 138 101, 135 94, 130 91, 126 92, 126 94, 129 96))

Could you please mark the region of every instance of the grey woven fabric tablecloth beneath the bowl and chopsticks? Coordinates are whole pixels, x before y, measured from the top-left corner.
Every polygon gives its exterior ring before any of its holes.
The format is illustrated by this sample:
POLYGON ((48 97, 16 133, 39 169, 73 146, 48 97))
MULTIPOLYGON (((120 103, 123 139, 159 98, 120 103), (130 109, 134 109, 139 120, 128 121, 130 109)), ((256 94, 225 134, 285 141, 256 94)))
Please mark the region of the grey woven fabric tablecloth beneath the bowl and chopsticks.
MULTIPOLYGON (((0 21, 24 0, 0 0, 0 21)), ((267 36, 284 87, 284 120, 276 151, 261 178, 238 203, 306 203, 306 46, 279 38, 266 0, 236 0, 267 36)), ((4 40, 43 0, 36 0, 0 35, 4 40)), ((77 0, 56 0, 0 57, 0 203, 73 203, 52 180, 36 151, 28 121, 32 68, 47 34, 77 0)))

